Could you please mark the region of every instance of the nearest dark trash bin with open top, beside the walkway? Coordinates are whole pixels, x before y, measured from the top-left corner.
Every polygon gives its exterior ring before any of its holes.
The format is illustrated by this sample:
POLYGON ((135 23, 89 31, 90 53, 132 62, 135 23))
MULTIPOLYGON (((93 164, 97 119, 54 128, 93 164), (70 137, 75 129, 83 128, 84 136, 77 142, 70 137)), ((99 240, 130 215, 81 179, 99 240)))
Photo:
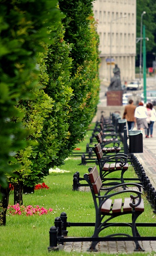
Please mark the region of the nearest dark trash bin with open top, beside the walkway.
POLYGON ((129 130, 130 153, 143 153, 143 131, 129 130))

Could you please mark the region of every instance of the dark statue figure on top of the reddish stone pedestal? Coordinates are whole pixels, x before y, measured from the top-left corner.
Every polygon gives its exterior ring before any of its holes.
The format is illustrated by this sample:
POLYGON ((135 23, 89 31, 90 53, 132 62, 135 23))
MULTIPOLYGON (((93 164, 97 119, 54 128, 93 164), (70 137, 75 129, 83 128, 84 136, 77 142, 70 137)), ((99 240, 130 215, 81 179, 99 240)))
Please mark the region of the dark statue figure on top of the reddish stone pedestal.
POLYGON ((114 76, 111 78, 111 83, 108 86, 108 91, 120 91, 121 88, 121 78, 120 78, 120 69, 117 64, 113 69, 114 76))

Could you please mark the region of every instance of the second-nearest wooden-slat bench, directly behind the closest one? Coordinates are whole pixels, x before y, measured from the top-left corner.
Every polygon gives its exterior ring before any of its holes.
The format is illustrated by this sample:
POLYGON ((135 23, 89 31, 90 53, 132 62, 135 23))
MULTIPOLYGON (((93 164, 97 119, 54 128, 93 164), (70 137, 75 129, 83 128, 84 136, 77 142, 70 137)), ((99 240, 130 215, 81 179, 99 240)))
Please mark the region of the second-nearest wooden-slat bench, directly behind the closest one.
MULTIPOLYGON (((124 173, 128 169, 127 155, 124 153, 116 153, 115 155, 105 156, 102 152, 100 143, 95 145, 92 150, 96 153, 99 164, 99 176, 102 183, 109 181, 109 185, 115 185, 119 182, 124 183, 124 173), (121 171, 119 178, 108 178, 110 173, 121 171)), ((106 183, 105 183, 106 185, 106 183)))

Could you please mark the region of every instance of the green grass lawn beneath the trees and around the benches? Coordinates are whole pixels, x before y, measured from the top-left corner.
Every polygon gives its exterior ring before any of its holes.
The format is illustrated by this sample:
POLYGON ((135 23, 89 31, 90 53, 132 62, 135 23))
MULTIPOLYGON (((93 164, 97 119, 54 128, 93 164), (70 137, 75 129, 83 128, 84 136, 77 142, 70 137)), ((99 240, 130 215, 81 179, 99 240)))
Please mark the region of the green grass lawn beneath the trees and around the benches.
MULTIPOLYGON (((92 131, 86 136, 83 143, 77 145, 81 152, 86 150, 86 143, 89 141, 89 136, 92 131)), ((76 171, 80 172, 83 177, 84 173, 88 172, 88 168, 92 165, 79 165, 81 158, 70 157, 65 161, 64 166, 59 169, 69 172, 50 173, 44 180, 49 189, 35 190, 34 194, 23 195, 23 203, 25 206, 43 206, 46 209, 52 208, 53 211, 47 215, 41 216, 24 216, 24 215, 9 215, 6 218, 6 226, 0 227, 0 256, 88 256, 89 253, 67 253, 64 251, 48 253, 49 246, 49 229, 54 226, 54 218, 60 216, 61 212, 67 213, 67 221, 69 222, 94 222, 95 209, 92 202, 90 192, 73 191, 73 174, 76 171)), ((135 172, 131 167, 126 174, 127 176, 135 176, 135 172)), ((13 205, 13 193, 10 195, 10 205, 13 205)), ((139 216, 138 222, 154 222, 156 216, 153 215, 153 210, 144 196, 145 212, 139 216)), ((123 217, 122 217, 123 218, 123 217)), ((128 216, 126 216, 128 218, 128 216)), ((119 218, 120 219, 120 218, 119 218)), ((122 221, 122 220, 120 220, 122 221)), ((140 227, 140 234, 151 236, 154 234, 154 228, 140 227)), ((108 231, 111 232, 111 229, 108 231)), ((106 232, 108 232, 106 231, 106 232)), ((125 227, 124 227, 125 231, 125 227)), ((113 232, 113 231, 112 231, 113 232)), ((93 227, 70 227, 68 228, 68 236, 92 236, 93 227)), ((146 248, 145 248, 146 249, 146 248)), ((107 253, 92 253, 92 256, 106 256, 107 253)), ((120 256, 122 254, 118 254, 120 256)), ((131 256, 153 256, 150 253, 132 253, 131 256)), ((116 254, 112 254, 116 256, 116 254)))

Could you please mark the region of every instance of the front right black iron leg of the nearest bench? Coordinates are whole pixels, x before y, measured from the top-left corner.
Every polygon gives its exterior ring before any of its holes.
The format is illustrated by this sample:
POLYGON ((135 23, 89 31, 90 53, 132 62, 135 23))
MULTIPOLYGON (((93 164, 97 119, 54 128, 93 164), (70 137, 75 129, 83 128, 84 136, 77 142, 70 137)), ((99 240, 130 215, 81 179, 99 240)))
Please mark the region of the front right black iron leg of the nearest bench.
MULTIPOLYGON (((137 217, 140 215, 141 213, 134 213, 132 214, 132 234, 133 236, 140 236, 138 230, 137 230, 137 227, 136 227, 136 220, 137 220, 137 217)), ((144 252, 144 249, 142 246, 140 246, 140 243, 134 239, 134 243, 135 243, 135 249, 134 251, 135 252, 140 252, 140 251, 143 251, 144 252)))

